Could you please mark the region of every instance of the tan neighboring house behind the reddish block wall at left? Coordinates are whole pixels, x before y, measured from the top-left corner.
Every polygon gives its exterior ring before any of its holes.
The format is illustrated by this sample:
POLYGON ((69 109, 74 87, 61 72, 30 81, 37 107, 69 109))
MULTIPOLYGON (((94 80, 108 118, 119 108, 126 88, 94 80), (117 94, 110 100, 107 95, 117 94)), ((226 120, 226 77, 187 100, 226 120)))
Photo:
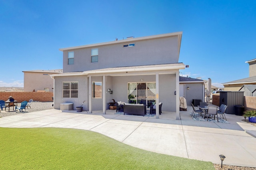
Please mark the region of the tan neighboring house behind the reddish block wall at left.
POLYGON ((50 74, 62 73, 62 69, 57 70, 30 70, 24 72, 24 92, 53 92, 54 80, 50 74))

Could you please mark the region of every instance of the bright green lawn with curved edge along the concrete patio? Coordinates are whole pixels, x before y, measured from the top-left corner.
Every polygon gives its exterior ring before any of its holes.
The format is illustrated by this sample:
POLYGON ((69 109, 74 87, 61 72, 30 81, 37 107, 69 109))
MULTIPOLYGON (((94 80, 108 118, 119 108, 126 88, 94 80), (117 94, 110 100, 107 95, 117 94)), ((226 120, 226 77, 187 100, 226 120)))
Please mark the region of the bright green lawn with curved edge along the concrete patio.
POLYGON ((0 127, 0 169, 214 170, 214 166, 134 148, 92 131, 0 127))

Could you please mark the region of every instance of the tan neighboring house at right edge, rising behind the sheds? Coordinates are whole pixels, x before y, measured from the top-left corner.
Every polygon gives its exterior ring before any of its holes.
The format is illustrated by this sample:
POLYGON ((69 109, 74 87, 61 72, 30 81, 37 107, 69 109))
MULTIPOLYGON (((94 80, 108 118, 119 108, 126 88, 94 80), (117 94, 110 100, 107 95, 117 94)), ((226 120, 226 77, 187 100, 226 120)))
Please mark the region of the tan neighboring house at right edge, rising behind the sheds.
POLYGON ((256 84, 256 59, 246 61, 245 63, 249 64, 249 77, 223 83, 225 91, 238 91, 244 84, 256 84))

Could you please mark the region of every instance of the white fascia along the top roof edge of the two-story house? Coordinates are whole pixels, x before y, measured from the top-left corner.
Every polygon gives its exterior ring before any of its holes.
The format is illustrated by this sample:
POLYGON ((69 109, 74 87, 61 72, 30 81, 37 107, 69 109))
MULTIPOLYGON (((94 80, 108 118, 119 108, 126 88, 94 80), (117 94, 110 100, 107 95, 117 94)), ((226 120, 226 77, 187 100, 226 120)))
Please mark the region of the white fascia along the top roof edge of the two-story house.
POLYGON ((110 41, 110 42, 105 42, 105 43, 96 43, 96 44, 81 45, 81 46, 76 46, 76 47, 67 47, 67 48, 62 48, 62 49, 59 49, 59 50, 60 51, 65 51, 65 50, 73 50, 73 49, 82 49, 82 48, 95 47, 95 46, 101 46, 101 45, 127 43, 127 42, 132 42, 132 41, 140 41, 140 40, 154 39, 154 38, 161 38, 161 37, 171 37, 171 36, 175 36, 175 35, 178 35, 178 49, 179 49, 178 52, 180 52, 180 43, 181 43, 182 31, 175 32, 175 33, 160 34, 160 35, 151 35, 151 36, 146 36, 146 37, 123 39, 123 40, 118 40, 118 41, 110 41))

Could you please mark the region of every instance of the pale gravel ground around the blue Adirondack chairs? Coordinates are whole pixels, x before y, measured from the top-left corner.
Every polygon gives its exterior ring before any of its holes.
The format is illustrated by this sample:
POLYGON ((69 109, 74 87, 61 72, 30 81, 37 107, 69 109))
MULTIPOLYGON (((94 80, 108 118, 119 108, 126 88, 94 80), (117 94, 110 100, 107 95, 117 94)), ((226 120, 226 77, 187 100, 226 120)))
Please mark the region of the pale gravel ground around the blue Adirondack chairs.
MULTIPOLYGON (((41 111, 41 110, 48 110, 53 109, 52 107, 53 102, 36 102, 33 101, 30 107, 26 109, 26 111, 23 109, 22 112, 20 112, 18 109, 16 111, 12 110, 12 107, 10 107, 10 111, 5 111, 5 109, 1 110, 0 117, 10 116, 10 115, 17 115, 21 113, 29 113, 34 111, 41 111)), ((20 103, 18 103, 18 106, 20 106, 20 103)), ((7 109, 8 110, 8 109, 7 109)), ((15 110, 15 107, 14 107, 15 110)))

